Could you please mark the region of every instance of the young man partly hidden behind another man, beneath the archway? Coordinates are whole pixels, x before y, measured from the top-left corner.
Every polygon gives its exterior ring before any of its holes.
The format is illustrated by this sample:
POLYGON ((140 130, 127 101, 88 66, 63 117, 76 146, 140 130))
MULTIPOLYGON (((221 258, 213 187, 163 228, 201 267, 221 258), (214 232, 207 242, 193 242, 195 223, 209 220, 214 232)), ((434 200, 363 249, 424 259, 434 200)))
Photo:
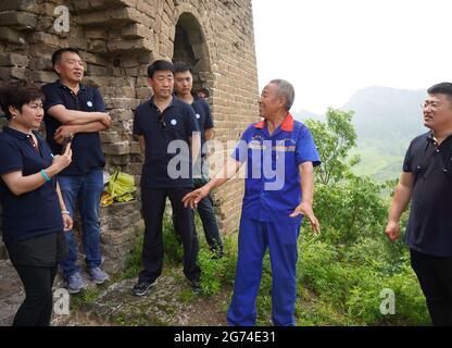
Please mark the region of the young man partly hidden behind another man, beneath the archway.
MULTIPOLYGON (((213 117, 208 103, 203 99, 194 98, 191 95, 193 76, 191 75, 190 66, 179 62, 174 64, 174 88, 177 97, 193 108, 201 132, 201 173, 199 175, 200 177, 193 178, 194 188, 200 188, 209 182, 209 173, 205 165, 208 153, 205 141, 213 139, 213 117)), ((223 240, 219 236, 211 195, 199 202, 198 213, 201 217, 202 228, 204 229, 205 240, 209 247, 217 257, 221 257, 223 254, 223 240)))

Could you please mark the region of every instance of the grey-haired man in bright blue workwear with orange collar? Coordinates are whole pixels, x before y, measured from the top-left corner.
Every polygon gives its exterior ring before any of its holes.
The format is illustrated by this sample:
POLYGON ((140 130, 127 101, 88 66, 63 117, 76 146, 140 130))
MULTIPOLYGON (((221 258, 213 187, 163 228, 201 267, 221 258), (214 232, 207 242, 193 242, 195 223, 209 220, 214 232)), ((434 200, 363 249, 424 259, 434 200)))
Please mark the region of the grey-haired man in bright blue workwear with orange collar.
POLYGON ((289 113, 293 99, 293 87, 288 82, 272 80, 260 99, 264 121, 243 133, 224 170, 184 198, 186 204, 196 207, 247 162, 236 282, 227 312, 230 325, 255 324, 262 260, 267 247, 273 271, 273 322, 296 324, 297 240, 303 215, 314 232, 319 231, 312 204, 313 172, 321 161, 310 130, 289 113))

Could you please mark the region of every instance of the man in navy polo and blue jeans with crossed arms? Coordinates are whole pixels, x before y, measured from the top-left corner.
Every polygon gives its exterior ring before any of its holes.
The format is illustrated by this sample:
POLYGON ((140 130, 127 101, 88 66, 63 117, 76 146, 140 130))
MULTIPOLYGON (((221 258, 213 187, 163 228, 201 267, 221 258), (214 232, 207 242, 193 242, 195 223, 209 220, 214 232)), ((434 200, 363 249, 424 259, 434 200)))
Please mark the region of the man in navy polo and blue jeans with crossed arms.
MULTIPOLYGON (((111 119, 105 113, 99 90, 80 84, 85 69, 77 50, 56 50, 52 63, 59 80, 42 87, 46 95, 47 141, 53 153, 62 153, 64 144, 72 139, 73 162, 60 173, 58 181, 71 216, 74 216, 78 200, 87 272, 96 284, 102 284, 109 279, 109 275, 100 268, 99 204, 105 160, 99 132, 110 126, 111 119)), ((68 291, 76 294, 87 285, 76 264, 78 252, 74 232, 66 233, 65 236, 70 254, 60 266, 68 291)))

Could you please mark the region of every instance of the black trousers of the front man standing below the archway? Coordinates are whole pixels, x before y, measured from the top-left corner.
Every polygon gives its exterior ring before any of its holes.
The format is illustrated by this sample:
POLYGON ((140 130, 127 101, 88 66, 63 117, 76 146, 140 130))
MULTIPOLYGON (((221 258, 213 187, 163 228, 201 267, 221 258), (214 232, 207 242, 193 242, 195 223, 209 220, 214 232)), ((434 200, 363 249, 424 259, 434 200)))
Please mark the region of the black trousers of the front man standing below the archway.
POLYGON ((183 198, 192 188, 141 189, 142 215, 145 219, 145 241, 142 247, 142 264, 145 270, 139 282, 153 282, 163 269, 163 213, 166 197, 170 198, 173 211, 177 216, 178 235, 184 247, 184 274, 190 281, 198 281, 201 274, 198 266, 198 237, 194 231, 194 215, 191 208, 185 208, 183 198))

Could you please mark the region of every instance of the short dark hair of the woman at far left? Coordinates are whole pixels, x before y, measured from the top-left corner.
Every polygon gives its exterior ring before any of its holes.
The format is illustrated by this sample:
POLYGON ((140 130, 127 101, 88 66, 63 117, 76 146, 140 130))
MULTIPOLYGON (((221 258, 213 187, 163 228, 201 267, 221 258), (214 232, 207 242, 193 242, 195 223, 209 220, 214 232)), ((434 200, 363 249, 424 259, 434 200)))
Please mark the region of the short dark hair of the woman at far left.
POLYGON ((0 88, 0 105, 8 120, 12 117, 9 110, 10 107, 22 112, 24 104, 36 99, 43 100, 43 94, 38 87, 25 80, 12 82, 0 88))

